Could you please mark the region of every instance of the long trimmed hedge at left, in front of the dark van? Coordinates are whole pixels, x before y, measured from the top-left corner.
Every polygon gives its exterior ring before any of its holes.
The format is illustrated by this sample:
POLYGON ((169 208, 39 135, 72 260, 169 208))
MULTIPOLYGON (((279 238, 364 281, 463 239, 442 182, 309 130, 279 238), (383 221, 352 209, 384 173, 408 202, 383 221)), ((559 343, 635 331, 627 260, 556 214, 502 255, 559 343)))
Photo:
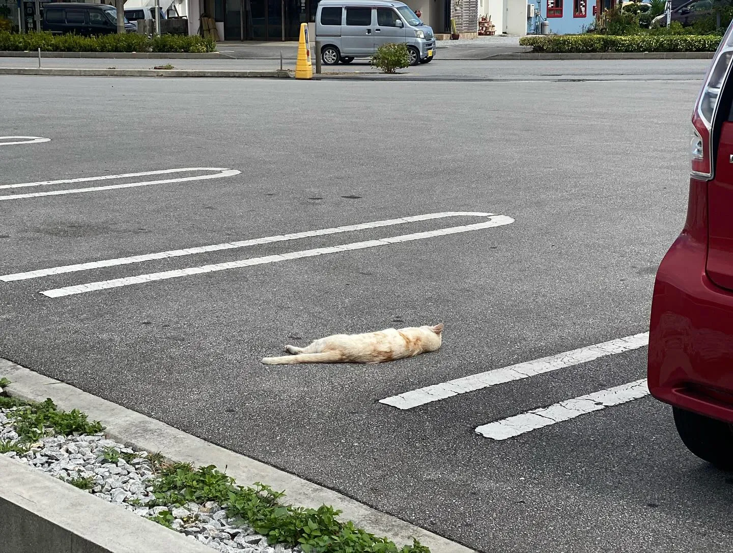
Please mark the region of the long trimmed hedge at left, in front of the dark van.
POLYGON ((137 33, 81 37, 50 32, 0 32, 0 51, 37 51, 38 48, 44 52, 213 52, 216 43, 210 38, 179 34, 148 38, 137 33))

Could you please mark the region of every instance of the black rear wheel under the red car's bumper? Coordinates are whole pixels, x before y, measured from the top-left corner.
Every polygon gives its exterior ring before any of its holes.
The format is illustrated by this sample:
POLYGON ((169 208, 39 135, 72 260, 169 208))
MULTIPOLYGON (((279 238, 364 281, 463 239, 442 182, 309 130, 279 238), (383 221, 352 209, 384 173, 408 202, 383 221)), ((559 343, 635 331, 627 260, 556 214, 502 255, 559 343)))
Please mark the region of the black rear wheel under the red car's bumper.
POLYGON ((673 407, 674 424, 682 443, 718 469, 733 470, 733 429, 727 422, 673 407))

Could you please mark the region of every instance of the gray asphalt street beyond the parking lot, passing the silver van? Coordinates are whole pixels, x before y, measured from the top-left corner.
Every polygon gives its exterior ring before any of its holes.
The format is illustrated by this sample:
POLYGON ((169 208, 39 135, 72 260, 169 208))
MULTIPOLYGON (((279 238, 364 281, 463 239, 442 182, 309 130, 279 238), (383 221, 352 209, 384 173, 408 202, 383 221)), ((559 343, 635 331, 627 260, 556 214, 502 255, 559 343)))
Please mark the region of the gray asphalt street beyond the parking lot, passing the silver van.
MULTIPOLYGON (((152 69, 169 63, 177 69, 262 70, 279 69, 280 62, 270 59, 66 59, 47 58, 43 67, 81 67, 117 69, 152 69)), ((400 73, 410 77, 440 79, 497 79, 518 81, 562 80, 641 80, 698 81, 704 78, 709 59, 649 59, 628 60, 562 60, 562 61, 453 61, 435 59, 400 73)), ((0 58, 0 67, 38 67, 32 58, 0 58)), ((285 69, 295 70, 295 62, 285 61, 285 69)), ((369 62, 355 60, 350 65, 323 67, 324 72, 377 73, 369 62)))

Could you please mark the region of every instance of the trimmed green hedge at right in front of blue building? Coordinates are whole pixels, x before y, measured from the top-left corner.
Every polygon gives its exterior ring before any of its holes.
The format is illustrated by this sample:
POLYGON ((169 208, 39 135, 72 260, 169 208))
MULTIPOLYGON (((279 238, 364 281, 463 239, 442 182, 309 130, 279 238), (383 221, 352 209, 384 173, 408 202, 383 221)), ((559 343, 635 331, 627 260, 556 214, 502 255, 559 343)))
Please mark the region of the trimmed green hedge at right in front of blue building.
POLYGON ((519 44, 534 52, 578 54, 588 52, 714 52, 721 43, 715 35, 578 34, 551 37, 522 37, 519 44))

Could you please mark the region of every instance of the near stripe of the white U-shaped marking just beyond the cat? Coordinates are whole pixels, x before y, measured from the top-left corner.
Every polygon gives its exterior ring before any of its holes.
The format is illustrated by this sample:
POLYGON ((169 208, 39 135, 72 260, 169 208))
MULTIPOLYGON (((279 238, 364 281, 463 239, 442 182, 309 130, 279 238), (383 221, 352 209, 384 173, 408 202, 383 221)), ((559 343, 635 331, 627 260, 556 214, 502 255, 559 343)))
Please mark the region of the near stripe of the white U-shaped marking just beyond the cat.
MULTIPOLYGON (((88 282, 82 285, 67 286, 65 288, 54 288, 54 290, 45 290, 41 292, 49 298, 60 298, 62 296, 71 296, 73 294, 81 294, 86 292, 94 292, 95 290, 105 290, 106 288, 118 288, 120 286, 130 286, 151 282, 154 280, 174 279, 180 276, 188 276, 191 274, 211 273, 216 271, 226 271, 228 269, 248 267, 250 265, 265 265, 266 263, 279 263, 298 259, 299 257, 312 257, 314 255, 336 254, 339 252, 349 252, 353 249, 373 248, 377 246, 388 246, 392 243, 408 242, 413 240, 421 240, 422 238, 433 238, 435 236, 443 236, 455 234, 457 232, 471 232, 473 230, 487 229, 491 227, 501 227, 504 224, 512 224, 514 219, 504 215, 490 215, 487 221, 482 223, 466 224, 460 227, 448 227, 438 230, 428 230, 427 232, 415 232, 413 234, 405 234, 393 236, 391 238, 379 238, 377 240, 367 240, 363 242, 352 242, 339 244, 338 246, 330 246, 325 248, 314 248, 301 250, 299 252, 287 252, 277 255, 266 255, 265 257, 250 257, 248 259, 229 261, 226 263, 214 263, 213 265, 202 265, 200 267, 188 267, 183 269, 175 269, 174 271, 163 271, 152 274, 139 274, 136 276, 125 276, 120 279, 103 280, 100 282, 88 282)), ((364 228, 369 228, 364 227, 364 228)))

